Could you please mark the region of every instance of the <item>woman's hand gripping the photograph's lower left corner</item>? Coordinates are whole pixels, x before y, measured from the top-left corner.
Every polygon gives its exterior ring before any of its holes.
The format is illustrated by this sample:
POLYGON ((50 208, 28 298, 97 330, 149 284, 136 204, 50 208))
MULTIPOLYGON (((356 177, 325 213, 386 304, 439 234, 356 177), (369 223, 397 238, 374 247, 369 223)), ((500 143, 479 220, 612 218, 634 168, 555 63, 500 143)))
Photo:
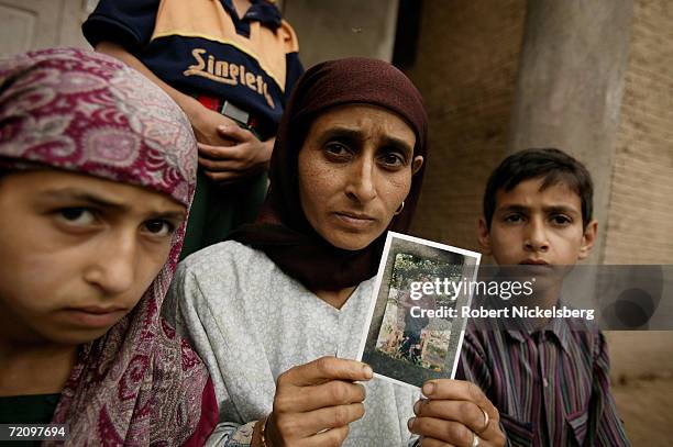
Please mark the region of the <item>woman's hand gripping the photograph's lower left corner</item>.
POLYGON ((367 365, 335 357, 284 372, 266 424, 267 446, 341 446, 349 424, 364 415, 365 389, 353 382, 371 378, 367 365))

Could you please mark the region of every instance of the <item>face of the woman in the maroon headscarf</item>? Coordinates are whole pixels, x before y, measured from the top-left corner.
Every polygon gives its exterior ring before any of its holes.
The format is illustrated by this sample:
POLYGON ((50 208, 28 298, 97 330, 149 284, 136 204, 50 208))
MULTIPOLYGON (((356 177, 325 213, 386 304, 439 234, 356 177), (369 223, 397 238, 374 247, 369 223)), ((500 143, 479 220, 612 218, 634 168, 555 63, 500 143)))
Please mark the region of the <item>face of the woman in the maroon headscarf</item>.
POLYGON ((299 198, 306 219, 335 247, 357 250, 388 226, 423 157, 398 115, 352 104, 319 115, 299 152, 299 198))

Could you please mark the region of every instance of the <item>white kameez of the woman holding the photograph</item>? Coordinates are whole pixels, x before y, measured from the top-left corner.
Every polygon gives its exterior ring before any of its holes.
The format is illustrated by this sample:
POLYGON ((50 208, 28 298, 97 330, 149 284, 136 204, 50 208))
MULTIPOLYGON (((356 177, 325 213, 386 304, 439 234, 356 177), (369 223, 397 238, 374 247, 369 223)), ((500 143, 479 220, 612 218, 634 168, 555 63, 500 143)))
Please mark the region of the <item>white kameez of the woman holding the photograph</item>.
MULTIPOLYGON (((323 356, 355 358, 374 279, 338 310, 285 275, 263 253, 224 242, 178 266, 164 313, 199 353, 212 377, 220 425, 211 440, 250 443, 251 426, 272 410, 278 376, 323 356)), ((420 393, 374 378, 365 415, 343 446, 407 446, 407 421, 420 393)))

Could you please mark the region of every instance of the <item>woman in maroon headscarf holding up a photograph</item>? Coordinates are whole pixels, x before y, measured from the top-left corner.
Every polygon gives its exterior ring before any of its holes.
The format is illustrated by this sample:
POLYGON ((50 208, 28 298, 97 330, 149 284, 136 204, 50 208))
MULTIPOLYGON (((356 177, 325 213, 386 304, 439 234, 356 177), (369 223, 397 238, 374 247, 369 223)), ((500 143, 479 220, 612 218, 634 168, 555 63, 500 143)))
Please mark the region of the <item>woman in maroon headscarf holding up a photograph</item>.
POLYGON ((497 438, 497 412, 466 383, 427 383, 434 399, 421 405, 415 389, 345 360, 384 233, 405 231, 416 206, 426 133, 419 92, 384 62, 329 62, 299 80, 258 222, 187 258, 166 303, 213 377, 225 420, 213 443, 402 446, 416 442, 409 429, 427 446, 497 438))

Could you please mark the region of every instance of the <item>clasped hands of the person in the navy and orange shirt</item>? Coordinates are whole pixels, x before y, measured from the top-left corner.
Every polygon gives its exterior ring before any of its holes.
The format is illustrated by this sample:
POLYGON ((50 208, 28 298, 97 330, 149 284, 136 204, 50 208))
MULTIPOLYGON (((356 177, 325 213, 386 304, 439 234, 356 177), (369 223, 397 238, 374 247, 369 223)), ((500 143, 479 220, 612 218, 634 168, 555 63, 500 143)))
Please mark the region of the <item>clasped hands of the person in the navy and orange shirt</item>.
POLYGON ((236 124, 219 126, 221 139, 231 146, 199 143, 199 166, 218 183, 231 183, 253 176, 268 167, 274 138, 261 142, 252 132, 236 124))

